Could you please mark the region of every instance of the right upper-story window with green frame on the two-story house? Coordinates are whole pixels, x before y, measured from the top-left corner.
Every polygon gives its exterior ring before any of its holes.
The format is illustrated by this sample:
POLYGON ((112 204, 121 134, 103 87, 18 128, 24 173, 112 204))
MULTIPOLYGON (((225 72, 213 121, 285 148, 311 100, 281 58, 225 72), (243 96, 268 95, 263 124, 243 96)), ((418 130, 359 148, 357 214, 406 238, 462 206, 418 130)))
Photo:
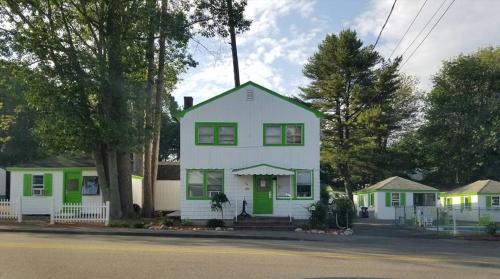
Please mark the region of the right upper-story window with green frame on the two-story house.
POLYGON ((264 124, 264 145, 304 145, 304 124, 264 124))

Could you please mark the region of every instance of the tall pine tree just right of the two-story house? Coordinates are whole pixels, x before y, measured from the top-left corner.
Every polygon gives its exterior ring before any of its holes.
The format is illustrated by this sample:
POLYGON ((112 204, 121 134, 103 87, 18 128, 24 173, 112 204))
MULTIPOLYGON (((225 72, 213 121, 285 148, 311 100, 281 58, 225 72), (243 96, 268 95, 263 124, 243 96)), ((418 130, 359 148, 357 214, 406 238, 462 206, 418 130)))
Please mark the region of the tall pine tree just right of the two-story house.
POLYGON ((327 35, 304 67, 311 83, 302 97, 325 113, 322 160, 350 196, 370 182, 367 171, 377 172, 377 160, 413 113, 413 105, 404 105, 399 63, 384 61, 356 32, 344 30, 327 35))

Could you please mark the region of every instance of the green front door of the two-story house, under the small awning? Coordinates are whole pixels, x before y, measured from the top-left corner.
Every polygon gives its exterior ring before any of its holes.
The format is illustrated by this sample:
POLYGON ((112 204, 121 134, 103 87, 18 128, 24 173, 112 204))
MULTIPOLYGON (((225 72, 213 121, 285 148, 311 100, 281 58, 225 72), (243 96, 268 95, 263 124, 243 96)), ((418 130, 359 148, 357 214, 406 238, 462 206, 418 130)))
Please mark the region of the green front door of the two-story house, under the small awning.
POLYGON ((254 177, 253 214, 273 213, 273 177, 259 175, 254 177))

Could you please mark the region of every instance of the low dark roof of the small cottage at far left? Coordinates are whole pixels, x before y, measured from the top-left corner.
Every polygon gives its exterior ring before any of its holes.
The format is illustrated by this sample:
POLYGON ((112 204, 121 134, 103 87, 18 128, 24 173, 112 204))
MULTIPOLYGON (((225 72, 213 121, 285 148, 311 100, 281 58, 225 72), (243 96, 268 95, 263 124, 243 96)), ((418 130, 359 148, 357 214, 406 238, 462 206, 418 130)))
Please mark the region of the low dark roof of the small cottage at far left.
POLYGON ((95 168, 95 162, 91 156, 86 155, 58 155, 19 163, 8 167, 7 170, 37 168, 95 168))

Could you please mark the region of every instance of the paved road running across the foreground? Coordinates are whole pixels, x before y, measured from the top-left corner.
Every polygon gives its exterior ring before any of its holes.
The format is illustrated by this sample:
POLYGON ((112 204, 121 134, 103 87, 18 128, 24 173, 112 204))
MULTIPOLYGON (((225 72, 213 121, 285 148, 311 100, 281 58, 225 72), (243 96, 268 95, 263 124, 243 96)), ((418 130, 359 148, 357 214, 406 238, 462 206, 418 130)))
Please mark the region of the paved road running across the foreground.
MULTIPOLYGON (((338 240, 337 240, 338 239, 338 240)), ((0 278, 500 278, 500 244, 0 233, 0 278)))

